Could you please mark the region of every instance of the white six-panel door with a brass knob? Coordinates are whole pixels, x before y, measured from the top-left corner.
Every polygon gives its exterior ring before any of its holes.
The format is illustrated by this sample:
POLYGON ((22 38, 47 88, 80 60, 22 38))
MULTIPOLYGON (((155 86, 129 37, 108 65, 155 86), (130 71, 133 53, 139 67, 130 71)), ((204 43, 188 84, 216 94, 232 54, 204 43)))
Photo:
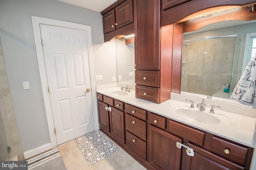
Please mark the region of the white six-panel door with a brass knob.
POLYGON ((94 130, 86 31, 40 24, 57 145, 94 130))

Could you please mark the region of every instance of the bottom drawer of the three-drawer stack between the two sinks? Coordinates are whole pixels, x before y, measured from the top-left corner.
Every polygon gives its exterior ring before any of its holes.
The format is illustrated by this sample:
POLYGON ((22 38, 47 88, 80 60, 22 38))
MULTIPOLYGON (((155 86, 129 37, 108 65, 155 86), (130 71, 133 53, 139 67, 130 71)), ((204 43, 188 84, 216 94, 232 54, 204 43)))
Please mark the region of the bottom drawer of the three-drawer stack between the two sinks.
POLYGON ((146 160, 146 142, 126 131, 126 145, 146 160))

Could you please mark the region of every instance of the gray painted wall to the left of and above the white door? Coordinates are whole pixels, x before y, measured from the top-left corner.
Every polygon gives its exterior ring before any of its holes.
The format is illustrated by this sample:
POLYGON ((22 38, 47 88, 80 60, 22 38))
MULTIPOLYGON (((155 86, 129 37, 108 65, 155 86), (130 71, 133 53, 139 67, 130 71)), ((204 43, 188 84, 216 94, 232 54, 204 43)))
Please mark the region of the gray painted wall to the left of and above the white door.
POLYGON ((104 42, 99 12, 56 0, 0 0, 2 51, 24 152, 50 143, 31 16, 90 25, 92 44, 104 42), (30 90, 23 90, 25 81, 30 90))

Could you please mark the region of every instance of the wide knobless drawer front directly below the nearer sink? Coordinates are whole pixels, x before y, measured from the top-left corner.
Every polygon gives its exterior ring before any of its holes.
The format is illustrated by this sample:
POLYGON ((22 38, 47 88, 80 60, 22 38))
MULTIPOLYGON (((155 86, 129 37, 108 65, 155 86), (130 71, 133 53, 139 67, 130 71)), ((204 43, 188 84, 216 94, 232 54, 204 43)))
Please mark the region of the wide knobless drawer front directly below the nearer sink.
POLYGON ((191 127, 187 127, 180 123, 169 121, 168 131, 183 137, 184 139, 188 139, 189 141, 196 143, 198 145, 204 145, 204 132, 198 131, 191 127))

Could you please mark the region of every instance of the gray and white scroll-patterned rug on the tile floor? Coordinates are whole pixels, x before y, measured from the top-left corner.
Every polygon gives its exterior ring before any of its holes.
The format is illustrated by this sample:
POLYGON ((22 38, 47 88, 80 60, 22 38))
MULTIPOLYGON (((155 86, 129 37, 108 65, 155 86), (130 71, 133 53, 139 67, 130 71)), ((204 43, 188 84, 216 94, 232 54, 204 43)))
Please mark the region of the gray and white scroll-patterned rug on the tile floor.
POLYGON ((100 130, 76 138, 76 143, 88 166, 92 166, 119 150, 100 130))

